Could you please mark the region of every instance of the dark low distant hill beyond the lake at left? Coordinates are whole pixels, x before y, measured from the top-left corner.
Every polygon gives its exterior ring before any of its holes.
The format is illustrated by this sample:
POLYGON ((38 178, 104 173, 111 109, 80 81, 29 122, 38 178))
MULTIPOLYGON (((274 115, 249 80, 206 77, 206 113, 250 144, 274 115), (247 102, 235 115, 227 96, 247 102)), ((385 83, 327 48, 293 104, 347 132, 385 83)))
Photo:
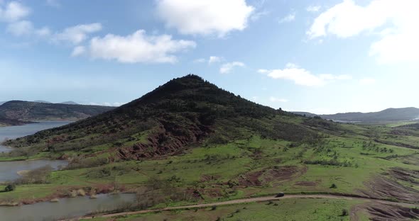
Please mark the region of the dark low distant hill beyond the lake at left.
POLYGON ((0 106, 0 118, 9 120, 80 120, 113 110, 107 106, 9 101, 0 106))

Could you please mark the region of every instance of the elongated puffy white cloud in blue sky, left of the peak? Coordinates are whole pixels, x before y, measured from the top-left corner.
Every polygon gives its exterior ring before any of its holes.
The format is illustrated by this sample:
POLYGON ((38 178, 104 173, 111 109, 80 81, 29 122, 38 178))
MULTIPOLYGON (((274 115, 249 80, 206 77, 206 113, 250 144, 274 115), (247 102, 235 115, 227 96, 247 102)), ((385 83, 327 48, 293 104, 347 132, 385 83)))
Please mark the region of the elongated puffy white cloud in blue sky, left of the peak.
POLYGON ((108 34, 92 38, 89 54, 93 58, 124 63, 173 63, 177 61, 173 53, 194 47, 196 43, 190 40, 173 40, 171 35, 146 35, 145 30, 137 30, 127 36, 108 34))

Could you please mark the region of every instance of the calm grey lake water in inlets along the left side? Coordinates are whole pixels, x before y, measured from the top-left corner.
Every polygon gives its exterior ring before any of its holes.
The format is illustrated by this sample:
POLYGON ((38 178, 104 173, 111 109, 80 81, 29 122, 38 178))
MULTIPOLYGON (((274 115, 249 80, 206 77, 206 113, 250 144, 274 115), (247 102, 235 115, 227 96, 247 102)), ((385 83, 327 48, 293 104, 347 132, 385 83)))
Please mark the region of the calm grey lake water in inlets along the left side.
MULTIPOLYGON (((60 127, 70 123, 69 121, 43 122, 23 126, 13 126, 0 128, 0 142, 5 139, 13 139, 32 135, 40 130, 60 127)), ((0 152, 9 152, 11 148, 0 146, 0 152)), ((18 178, 18 171, 36 169, 45 165, 65 166, 67 162, 61 160, 34 160, 18 162, 0 162, 0 182, 10 181, 18 178)), ((1 193, 0 193, 1 194, 1 193)), ((40 221, 40 220, 60 220, 63 217, 77 217, 97 210, 113 210, 135 200, 135 194, 100 194, 96 199, 89 197, 63 198, 58 203, 35 203, 21 206, 0 206, 0 220, 7 221, 40 221)))

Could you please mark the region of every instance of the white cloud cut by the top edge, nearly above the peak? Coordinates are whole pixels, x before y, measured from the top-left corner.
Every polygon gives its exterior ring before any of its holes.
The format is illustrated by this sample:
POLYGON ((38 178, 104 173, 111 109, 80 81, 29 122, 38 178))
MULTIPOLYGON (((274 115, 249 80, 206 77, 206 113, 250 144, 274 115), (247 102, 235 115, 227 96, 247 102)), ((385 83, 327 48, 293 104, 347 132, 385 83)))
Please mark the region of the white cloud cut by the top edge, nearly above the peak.
POLYGON ((232 30, 244 30, 253 6, 245 0, 157 0, 157 13, 168 28, 182 34, 222 37, 232 30))

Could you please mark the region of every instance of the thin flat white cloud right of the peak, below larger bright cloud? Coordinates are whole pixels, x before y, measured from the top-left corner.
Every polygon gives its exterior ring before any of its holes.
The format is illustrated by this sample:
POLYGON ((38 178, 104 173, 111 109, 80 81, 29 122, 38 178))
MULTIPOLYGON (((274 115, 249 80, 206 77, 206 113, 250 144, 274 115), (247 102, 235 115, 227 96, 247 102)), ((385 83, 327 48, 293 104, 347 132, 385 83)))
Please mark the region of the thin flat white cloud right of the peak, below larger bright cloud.
POLYGON ((272 79, 290 80, 294 81, 295 84, 303 86, 324 86, 332 81, 352 79, 349 75, 315 75, 292 63, 286 64, 284 69, 259 69, 258 72, 261 74, 267 74, 267 76, 272 79))

